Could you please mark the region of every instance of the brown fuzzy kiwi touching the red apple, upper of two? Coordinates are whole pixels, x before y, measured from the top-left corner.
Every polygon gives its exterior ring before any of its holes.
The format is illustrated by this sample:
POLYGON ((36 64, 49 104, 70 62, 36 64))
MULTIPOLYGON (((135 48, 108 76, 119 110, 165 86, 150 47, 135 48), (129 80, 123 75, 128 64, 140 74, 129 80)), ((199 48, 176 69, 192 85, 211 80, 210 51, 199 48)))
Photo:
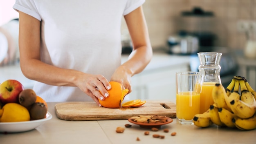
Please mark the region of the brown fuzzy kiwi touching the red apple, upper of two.
POLYGON ((36 93, 33 89, 25 89, 19 94, 20 105, 29 107, 36 102, 36 93))

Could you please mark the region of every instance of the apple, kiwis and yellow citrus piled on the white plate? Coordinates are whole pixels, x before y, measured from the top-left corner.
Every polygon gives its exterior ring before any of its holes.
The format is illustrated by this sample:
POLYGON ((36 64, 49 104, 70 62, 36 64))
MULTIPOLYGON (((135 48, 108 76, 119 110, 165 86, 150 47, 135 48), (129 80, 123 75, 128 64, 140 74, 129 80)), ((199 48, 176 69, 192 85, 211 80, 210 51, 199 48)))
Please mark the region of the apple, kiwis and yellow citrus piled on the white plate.
POLYGON ((0 84, 0 122, 23 122, 45 118, 47 103, 17 80, 0 84))

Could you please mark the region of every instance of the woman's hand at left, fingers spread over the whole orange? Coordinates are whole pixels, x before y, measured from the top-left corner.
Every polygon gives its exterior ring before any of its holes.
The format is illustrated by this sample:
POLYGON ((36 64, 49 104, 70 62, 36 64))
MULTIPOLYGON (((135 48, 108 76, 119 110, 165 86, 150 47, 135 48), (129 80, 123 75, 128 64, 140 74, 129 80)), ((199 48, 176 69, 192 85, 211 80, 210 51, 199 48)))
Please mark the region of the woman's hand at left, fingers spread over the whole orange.
POLYGON ((105 100, 105 97, 109 96, 107 90, 111 89, 111 85, 103 75, 87 74, 87 76, 79 79, 76 86, 89 95, 99 106, 101 106, 99 100, 105 100))

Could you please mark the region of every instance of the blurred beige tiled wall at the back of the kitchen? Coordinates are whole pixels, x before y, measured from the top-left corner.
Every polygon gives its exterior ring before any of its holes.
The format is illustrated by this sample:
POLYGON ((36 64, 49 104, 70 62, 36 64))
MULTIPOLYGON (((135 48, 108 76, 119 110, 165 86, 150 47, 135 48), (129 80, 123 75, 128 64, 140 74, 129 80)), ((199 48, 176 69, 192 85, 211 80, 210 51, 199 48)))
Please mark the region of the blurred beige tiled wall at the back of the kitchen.
POLYGON ((213 46, 242 50, 247 39, 237 24, 256 21, 256 0, 146 0, 143 8, 153 48, 166 46, 170 35, 186 30, 213 36, 213 46), (208 15, 197 11, 198 15, 185 16, 194 8, 208 15))

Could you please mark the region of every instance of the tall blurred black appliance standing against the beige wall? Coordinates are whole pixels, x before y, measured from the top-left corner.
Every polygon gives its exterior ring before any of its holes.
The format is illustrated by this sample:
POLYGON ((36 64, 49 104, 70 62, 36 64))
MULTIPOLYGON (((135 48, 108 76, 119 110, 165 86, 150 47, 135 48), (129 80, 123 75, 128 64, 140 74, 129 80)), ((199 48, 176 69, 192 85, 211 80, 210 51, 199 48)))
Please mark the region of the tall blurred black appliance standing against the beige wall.
POLYGON ((216 18, 213 12, 204 11, 200 7, 193 7, 189 11, 182 11, 177 19, 177 29, 186 31, 199 40, 199 52, 211 51, 216 35, 216 18))

